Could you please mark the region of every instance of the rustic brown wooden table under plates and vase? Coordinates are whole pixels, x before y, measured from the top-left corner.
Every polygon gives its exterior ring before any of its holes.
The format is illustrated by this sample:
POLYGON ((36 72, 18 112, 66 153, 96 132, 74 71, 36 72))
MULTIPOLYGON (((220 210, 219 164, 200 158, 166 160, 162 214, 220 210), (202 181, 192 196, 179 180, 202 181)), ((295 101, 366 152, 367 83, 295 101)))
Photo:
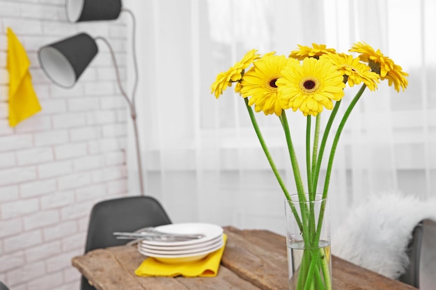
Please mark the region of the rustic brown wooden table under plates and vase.
MULTIPOLYGON (((224 227, 228 239, 217 277, 138 277, 144 256, 131 245, 98 249, 72 259, 98 290, 288 290, 286 238, 265 230, 224 227)), ((334 290, 416 290, 332 257, 334 290)))

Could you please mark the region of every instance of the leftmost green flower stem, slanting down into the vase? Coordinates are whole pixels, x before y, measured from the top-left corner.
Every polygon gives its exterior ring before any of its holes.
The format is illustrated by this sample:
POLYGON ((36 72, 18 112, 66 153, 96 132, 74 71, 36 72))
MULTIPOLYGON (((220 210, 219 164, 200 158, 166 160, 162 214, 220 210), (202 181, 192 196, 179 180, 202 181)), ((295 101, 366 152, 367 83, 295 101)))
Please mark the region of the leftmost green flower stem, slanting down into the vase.
MULTIPOLYGON (((262 147, 263 152, 265 153, 265 156, 267 156, 267 159, 268 159, 268 162, 270 163, 272 172, 274 172, 274 175, 277 178, 277 182, 279 182, 281 190, 283 191, 283 193, 286 196, 286 200, 290 201, 291 199, 290 199, 290 195, 288 193, 288 189, 286 188, 285 184, 283 183, 283 179, 281 179, 279 170, 277 170, 277 166, 275 165, 274 161, 272 160, 272 156, 271 156, 270 151, 268 150, 268 147, 265 143, 265 139, 263 138, 262 133, 260 132, 260 128, 259 128, 258 122, 256 121, 256 117, 253 113, 253 110, 251 109, 251 106, 249 106, 249 104, 248 104, 248 99, 244 98, 244 101, 245 101, 245 106, 247 107, 247 111, 248 111, 249 116, 250 116, 251 124, 253 124, 254 131, 256 131, 256 136, 258 137, 258 140, 260 142, 260 146, 262 147)), ((295 216, 295 220, 297 220, 297 225, 298 225, 299 229, 303 230, 303 225, 302 225, 301 220, 299 219, 297 210, 295 209, 292 202, 289 202, 289 205, 290 205, 290 209, 293 211, 293 214, 295 216)))

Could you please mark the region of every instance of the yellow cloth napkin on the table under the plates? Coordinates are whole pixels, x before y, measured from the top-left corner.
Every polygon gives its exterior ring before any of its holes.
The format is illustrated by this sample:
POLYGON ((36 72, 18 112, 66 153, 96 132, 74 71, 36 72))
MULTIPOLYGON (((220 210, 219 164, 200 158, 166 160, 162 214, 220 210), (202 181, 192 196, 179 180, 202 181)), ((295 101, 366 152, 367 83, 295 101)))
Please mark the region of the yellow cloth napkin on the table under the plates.
POLYGON ((226 247, 227 236, 223 234, 224 245, 207 257, 181 264, 166 264, 153 257, 145 259, 134 272, 138 276, 165 276, 165 277, 215 277, 218 274, 221 257, 226 247))

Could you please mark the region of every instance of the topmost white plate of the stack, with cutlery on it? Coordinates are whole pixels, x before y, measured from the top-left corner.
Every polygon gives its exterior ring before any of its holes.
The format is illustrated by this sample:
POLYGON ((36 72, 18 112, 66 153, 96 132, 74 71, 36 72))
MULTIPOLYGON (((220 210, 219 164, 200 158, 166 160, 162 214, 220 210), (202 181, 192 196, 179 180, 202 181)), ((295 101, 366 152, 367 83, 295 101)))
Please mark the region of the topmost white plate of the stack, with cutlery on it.
POLYGON ((209 223, 173 223, 169 225, 161 225, 155 227, 159 232, 167 234, 204 234, 201 239, 189 240, 189 241, 146 241, 141 243, 146 245, 159 245, 162 247, 171 247, 174 245, 194 245, 198 243, 204 243, 216 239, 223 234, 223 229, 219 225, 212 225, 209 223))

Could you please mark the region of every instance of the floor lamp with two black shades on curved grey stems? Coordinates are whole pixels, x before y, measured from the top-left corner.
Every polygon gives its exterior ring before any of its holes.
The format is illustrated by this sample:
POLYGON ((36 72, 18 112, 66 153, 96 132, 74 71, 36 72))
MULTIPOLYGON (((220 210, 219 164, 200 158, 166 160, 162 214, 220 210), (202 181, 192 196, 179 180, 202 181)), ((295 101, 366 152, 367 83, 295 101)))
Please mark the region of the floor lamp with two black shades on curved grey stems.
POLYGON ((130 117, 134 129, 134 140, 137 152, 139 188, 141 195, 145 194, 143 186, 141 150, 139 147, 139 136, 137 127, 137 111, 135 106, 135 95, 138 83, 138 67, 135 49, 135 19, 132 11, 125 9, 120 0, 67 0, 65 12, 69 22, 98 21, 117 19, 121 12, 129 13, 133 20, 132 29, 132 56, 134 65, 134 84, 131 97, 123 89, 120 80, 120 72, 116 63, 114 49, 110 43, 100 36, 92 38, 86 33, 72 35, 57 42, 51 43, 38 49, 38 59, 42 70, 47 77, 56 85, 63 88, 71 88, 78 81, 81 74, 86 70, 89 63, 98 54, 97 41, 104 42, 109 47, 112 62, 116 72, 116 81, 128 104, 130 117))

